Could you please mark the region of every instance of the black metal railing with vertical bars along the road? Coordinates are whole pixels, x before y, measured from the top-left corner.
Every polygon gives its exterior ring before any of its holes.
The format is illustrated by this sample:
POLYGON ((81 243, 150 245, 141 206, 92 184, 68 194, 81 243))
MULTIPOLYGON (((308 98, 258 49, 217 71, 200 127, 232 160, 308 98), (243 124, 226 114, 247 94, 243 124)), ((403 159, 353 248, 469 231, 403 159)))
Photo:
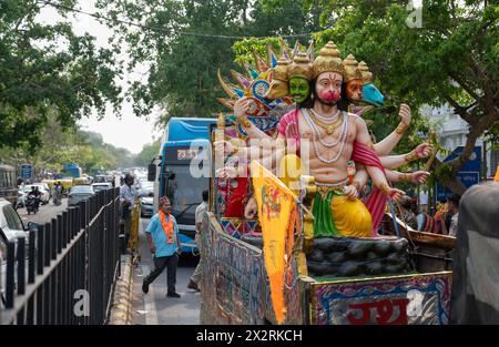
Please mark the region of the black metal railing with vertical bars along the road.
POLYGON ((120 188, 98 192, 8 243, 0 324, 106 323, 120 273, 120 188))

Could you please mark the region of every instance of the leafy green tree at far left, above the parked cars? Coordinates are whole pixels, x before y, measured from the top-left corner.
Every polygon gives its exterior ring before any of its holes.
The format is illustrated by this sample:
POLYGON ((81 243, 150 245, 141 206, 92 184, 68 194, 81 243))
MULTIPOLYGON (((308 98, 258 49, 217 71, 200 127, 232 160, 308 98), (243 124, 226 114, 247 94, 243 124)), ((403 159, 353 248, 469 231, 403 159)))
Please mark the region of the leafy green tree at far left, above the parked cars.
MULTIPOLYGON (((65 18, 65 7, 78 1, 51 2, 65 18)), ((116 112, 121 105, 115 52, 98 49, 89 34, 77 35, 65 19, 37 21, 45 6, 39 0, 0 2, 0 149, 24 146, 34 153, 49 112, 70 129, 92 109, 103 115, 106 102, 116 112)))

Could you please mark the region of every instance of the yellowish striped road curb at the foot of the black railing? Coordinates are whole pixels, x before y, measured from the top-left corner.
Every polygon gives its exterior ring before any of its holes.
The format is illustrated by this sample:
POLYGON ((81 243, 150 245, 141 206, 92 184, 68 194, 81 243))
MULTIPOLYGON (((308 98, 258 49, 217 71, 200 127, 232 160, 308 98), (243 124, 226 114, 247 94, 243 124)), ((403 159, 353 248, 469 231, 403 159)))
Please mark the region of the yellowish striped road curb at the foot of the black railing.
POLYGON ((133 265, 132 256, 129 255, 121 264, 121 276, 114 288, 113 304, 109 318, 110 325, 131 325, 132 324, 132 290, 133 285, 133 265))

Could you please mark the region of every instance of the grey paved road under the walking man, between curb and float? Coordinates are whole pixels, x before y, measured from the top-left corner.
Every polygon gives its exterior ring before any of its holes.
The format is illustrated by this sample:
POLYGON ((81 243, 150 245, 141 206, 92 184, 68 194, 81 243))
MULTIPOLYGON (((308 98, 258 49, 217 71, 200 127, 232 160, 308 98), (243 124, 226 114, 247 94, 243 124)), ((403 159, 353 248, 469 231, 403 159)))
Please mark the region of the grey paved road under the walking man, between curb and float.
POLYGON ((197 264, 197 257, 182 255, 176 272, 176 292, 180 299, 166 297, 166 271, 149 287, 149 294, 142 293, 142 280, 153 268, 151 253, 147 248, 144 229, 149 218, 141 220, 139 232, 139 252, 141 263, 134 272, 133 284, 133 324, 136 325, 175 325, 200 324, 200 293, 186 288, 189 278, 197 264))

